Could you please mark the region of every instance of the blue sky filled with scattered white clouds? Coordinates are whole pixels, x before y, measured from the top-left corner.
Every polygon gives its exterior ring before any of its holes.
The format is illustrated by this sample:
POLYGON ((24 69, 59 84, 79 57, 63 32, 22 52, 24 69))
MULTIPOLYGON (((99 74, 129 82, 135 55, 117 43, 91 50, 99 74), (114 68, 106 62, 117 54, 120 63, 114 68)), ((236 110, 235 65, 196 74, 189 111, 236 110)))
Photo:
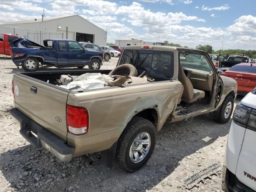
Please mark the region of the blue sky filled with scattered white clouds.
POLYGON ((0 23, 79 14, 108 42, 138 38, 256 50, 256 0, 0 0, 0 23))

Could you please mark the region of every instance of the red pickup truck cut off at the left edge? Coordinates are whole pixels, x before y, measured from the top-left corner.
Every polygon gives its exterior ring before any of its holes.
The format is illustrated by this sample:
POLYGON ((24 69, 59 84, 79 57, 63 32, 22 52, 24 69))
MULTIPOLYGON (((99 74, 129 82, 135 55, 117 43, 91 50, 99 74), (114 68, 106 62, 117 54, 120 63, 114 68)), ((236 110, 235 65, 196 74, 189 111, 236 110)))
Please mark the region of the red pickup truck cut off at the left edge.
POLYGON ((12 34, 1 33, 0 34, 0 54, 11 55, 10 54, 10 42, 19 37, 12 34))

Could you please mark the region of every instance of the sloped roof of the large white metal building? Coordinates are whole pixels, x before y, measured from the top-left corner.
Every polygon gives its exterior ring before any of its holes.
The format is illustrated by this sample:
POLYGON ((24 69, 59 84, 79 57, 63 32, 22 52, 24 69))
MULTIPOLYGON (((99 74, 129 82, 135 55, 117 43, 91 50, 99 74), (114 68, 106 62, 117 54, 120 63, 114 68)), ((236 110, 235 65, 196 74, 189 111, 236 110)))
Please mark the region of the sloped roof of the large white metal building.
MULTIPOLYGON (((70 16, 59 16, 59 17, 44 18, 44 21, 42 21, 42 18, 36 18, 36 20, 23 20, 23 21, 8 22, 8 23, 0 24, 0 26, 6 26, 6 25, 11 25, 11 24, 42 23, 42 22, 48 22, 48 21, 51 21, 51 20, 57 20, 57 19, 62 19, 62 18, 67 18, 67 17, 74 17, 74 16, 78 16, 78 17, 86 20, 85 18, 81 17, 80 15, 70 15, 70 16)), ((102 29, 99 26, 93 24, 92 22, 90 22, 88 20, 86 20, 86 21, 89 22, 90 24, 98 27, 99 29, 103 30, 104 32, 106 32, 104 29, 102 29)))

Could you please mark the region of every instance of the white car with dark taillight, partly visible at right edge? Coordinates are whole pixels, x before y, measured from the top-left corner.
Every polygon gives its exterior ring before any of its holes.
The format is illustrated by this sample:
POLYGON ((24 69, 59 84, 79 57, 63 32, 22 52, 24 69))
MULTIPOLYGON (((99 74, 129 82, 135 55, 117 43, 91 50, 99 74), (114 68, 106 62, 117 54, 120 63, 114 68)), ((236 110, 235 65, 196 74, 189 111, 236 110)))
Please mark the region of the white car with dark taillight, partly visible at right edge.
POLYGON ((223 163, 222 189, 256 191, 256 88, 234 110, 223 163))

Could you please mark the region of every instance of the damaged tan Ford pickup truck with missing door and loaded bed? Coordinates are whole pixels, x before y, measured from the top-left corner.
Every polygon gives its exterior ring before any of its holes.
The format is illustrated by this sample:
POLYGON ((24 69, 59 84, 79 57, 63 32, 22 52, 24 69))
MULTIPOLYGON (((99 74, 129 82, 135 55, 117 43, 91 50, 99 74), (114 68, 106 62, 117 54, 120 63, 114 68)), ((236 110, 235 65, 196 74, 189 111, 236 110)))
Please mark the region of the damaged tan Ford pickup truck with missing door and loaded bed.
POLYGON ((20 122, 20 134, 59 160, 101 151, 107 166, 116 159, 133 172, 150 158, 164 122, 190 121, 206 113, 214 113, 219 123, 230 119, 237 84, 218 75, 206 52, 127 46, 117 66, 122 64, 132 64, 138 75, 155 81, 74 91, 56 86, 56 79, 110 70, 14 74, 10 114, 20 122))

